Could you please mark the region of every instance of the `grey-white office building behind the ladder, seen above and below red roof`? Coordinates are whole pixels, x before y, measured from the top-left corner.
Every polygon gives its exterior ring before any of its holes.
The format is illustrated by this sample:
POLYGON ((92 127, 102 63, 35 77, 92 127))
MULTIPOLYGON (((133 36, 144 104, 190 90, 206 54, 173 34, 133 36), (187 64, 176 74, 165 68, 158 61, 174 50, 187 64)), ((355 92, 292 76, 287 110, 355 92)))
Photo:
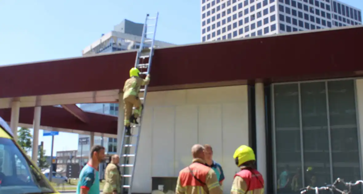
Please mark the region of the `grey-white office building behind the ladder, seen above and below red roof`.
MULTIPOLYGON (((103 34, 101 38, 94 41, 91 45, 82 50, 82 55, 93 55, 98 53, 111 53, 120 50, 137 49, 140 46, 143 25, 140 23, 134 23, 129 20, 123 20, 120 24, 114 26, 114 30, 103 34)), ((174 44, 166 43, 163 41, 155 40, 154 46, 167 47, 174 44)), ((146 45, 147 46, 147 45, 146 45)), ((128 73, 128 72, 125 72, 128 73)), ((118 115, 118 104, 114 103, 97 103, 97 104, 80 104, 79 108, 85 111, 97 112, 103 114, 118 115)), ((89 135, 79 134, 78 138, 87 138, 89 135)), ((101 137, 94 137, 94 144, 101 144, 101 137)), ((107 154, 117 153, 117 138, 103 138, 103 145, 106 148, 107 154)), ((81 145, 78 146, 77 156, 88 156, 90 153, 90 146, 81 145), (81 151, 82 150, 82 151, 81 151)))

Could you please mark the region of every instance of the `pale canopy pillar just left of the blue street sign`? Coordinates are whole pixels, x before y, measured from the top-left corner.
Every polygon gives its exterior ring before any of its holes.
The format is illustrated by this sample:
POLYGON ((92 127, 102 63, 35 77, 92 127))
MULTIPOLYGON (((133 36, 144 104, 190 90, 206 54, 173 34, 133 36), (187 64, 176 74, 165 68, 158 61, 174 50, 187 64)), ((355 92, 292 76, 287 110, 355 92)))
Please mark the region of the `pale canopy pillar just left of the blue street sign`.
POLYGON ((41 117, 41 106, 34 107, 34 120, 33 120, 33 145, 32 145, 32 161, 38 162, 38 144, 39 144, 39 128, 41 117))

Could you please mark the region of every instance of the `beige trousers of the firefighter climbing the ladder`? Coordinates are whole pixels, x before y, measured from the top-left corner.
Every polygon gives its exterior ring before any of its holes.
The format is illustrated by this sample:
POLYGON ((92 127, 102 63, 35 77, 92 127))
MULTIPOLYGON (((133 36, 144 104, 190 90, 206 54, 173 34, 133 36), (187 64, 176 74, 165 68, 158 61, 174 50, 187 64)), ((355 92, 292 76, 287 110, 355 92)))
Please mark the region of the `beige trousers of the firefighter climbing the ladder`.
POLYGON ((123 122, 125 126, 130 126, 130 116, 132 114, 132 107, 135 107, 134 116, 135 118, 139 117, 142 109, 142 103, 140 98, 137 96, 128 96, 123 99, 123 109, 125 111, 125 117, 123 118, 123 122))

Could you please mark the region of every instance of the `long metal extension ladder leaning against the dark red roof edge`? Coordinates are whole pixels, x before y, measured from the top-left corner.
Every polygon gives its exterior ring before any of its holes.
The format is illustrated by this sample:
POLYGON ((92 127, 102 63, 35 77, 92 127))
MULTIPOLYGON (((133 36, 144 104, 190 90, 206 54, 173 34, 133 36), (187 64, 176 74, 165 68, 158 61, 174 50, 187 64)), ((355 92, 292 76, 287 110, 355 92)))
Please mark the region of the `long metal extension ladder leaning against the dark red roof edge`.
MULTIPOLYGON (((140 70, 140 75, 148 74, 151 69, 152 56, 154 55, 154 42, 155 42, 155 33, 156 33, 156 25, 158 24, 159 13, 156 13, 155 17, 150 17, 149 14, 146 15, 144 28, 142 32, 142 38, 140 41, 140 47, 136 54, 135 67, 140 70), (149 23, 152 23, 151 25, 149 23), (151 31, 148 31, 151 29, 151 31), (151 35, 151 39, 147 38, 147 35, 151 35)), ((146 102, 146 94, 147 94, 147 85, 142 86, 140 88, 140 94, 143 97, 140 98, 143 105, 146 102)), ((122 149, 120 154, 121 161, 121 193, 131 194, 131 187, 134 181, 135 174, 135 164, 136 164, 136 155, 139 146, 140 140, 140 132, 141 132, 141 124, 142 124, 142 109, 140 113, 140 120, 138 125, 131 125, 131 132, 134 129, 137 129, 136 134, 131 134, 131 136, 126 136, 125 130, 123 130, 122 134, 122 149), (135 139, 136 138, 136 142, 135 139), (133 144, 135 142, 135 144, 133 144), (132 150, 132 151, 131 151, 132 150), (130 162, 132 161, 132 162, 130 162)))

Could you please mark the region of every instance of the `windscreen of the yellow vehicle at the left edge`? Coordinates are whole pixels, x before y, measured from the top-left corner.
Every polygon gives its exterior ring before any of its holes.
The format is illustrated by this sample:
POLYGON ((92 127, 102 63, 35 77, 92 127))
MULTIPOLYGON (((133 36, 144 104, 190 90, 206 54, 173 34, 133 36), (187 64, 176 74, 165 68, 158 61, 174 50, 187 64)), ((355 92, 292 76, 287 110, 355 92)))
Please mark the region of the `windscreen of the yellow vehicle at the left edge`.
MULTIPOLYGON (((0 128, 0 130, 2 129, 0 128)), ((29 158, 19 150, 12 140, 0 138, 1 194, 55 192, 41 172, 32 165, 29 158)))

